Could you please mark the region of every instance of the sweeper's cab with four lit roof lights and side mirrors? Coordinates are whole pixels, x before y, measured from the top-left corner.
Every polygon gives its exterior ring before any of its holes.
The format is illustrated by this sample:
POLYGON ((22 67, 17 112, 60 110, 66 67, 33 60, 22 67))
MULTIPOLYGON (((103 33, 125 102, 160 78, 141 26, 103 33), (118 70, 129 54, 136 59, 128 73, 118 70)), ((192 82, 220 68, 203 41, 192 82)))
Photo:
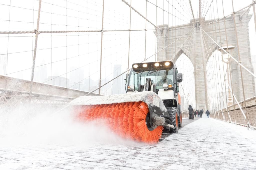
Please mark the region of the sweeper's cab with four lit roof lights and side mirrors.
POLYGON ((171 61, 135 63, 126 79, 127 93, 154 91, 162 99, 173 99, 178 95, 182 73, 171 61))

